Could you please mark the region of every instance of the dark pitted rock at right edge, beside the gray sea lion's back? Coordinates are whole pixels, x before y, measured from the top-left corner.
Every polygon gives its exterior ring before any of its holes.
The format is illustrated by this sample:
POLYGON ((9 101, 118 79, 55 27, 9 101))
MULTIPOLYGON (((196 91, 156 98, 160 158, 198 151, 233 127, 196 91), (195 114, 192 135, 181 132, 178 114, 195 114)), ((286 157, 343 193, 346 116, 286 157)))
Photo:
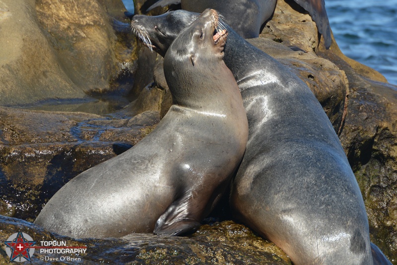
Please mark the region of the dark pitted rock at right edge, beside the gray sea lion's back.
POLYGON ((340 135, 367 208, 372 241, 397 261, 397 87, 348 75, 340 135))

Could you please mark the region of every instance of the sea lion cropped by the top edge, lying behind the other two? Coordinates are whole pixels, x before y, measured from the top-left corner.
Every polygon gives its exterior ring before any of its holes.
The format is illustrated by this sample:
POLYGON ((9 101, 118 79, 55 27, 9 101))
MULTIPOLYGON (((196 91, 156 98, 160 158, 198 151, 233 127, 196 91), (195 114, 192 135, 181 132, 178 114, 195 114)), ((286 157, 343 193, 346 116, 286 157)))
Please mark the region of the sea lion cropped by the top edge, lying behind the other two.
MULTIPOLYGON (((327 49, 331 46, 331 27, 324 0, 294 0, 309 12, 317 29, 324 37, 327 49)), ((157 6, 181 3, 182 9, 202 12, 213 8, 225 16, 226 22, 245 39, 257 38, 262 25, 271 18, 277 0, 159 0, 147 11, 157 6)))

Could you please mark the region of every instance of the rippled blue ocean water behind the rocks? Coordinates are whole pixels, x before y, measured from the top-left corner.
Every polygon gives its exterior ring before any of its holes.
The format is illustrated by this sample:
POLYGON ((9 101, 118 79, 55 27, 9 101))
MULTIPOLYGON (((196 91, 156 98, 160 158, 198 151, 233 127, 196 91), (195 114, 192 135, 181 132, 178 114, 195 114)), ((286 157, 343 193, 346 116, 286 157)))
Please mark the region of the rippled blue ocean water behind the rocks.
MULTIPOLYGON (((397 0, 325 0, 340 50, 397 85, 397 0)), ((132 0, 123 0, 133 12, 132 0)))

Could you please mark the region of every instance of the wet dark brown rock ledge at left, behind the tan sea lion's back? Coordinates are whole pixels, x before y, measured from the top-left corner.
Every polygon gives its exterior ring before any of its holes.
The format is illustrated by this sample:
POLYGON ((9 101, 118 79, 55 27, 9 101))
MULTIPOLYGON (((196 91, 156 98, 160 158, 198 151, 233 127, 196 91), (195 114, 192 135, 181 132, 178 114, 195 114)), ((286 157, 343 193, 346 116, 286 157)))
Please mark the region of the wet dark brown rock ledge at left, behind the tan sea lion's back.
POLYGON ((33 221, 69 179, 135 145, 159 111, 111 119, 0 107, 0 214, 33 221))

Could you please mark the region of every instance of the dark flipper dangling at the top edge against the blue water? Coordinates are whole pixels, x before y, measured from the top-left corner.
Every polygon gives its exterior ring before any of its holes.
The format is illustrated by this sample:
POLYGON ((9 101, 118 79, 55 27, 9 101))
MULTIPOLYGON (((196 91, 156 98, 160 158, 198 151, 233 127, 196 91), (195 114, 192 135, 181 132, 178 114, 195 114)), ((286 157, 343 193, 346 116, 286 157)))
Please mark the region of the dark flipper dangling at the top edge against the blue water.
POLYGON ((316 22, 317 30, 323 35, 326 48, 331 46, 331 28, 330 21, 326 11, 324 0, 294 0, 300 6, 309 12, 310 16, 316 22))

